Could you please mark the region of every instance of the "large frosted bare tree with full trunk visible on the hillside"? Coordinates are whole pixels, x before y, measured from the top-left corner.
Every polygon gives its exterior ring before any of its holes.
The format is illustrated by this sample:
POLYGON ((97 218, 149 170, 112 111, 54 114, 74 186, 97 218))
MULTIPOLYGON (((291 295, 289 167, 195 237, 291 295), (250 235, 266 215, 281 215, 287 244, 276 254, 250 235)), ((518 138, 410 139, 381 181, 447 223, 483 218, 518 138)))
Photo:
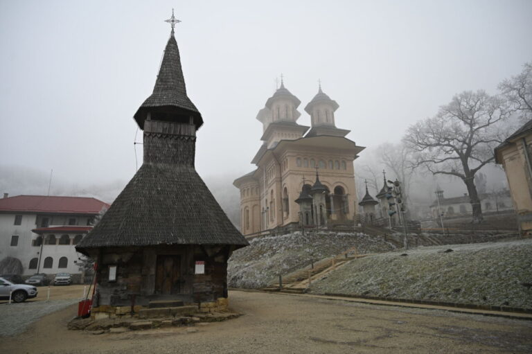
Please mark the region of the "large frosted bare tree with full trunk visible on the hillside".
POLYGON ((482 220, 475 173, 494 161, 493 149, 506 136, 501 123, 508 114, 502 98, 483 90, 464 91, 433 118, 411 125, 403 138, 414 153, 413 167, 423 166, 434 175, 462 179, 468 189, 473 222, 482 220))

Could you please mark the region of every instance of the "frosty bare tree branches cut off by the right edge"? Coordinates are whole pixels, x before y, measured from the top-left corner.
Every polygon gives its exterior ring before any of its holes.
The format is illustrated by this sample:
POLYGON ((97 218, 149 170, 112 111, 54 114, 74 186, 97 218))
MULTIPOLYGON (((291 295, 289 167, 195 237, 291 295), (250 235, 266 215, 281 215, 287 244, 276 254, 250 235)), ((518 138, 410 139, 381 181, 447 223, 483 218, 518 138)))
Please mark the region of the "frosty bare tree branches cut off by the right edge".
POLYGON ((532 62, 525 63, 519 75, 501 82, 499 90, 520 114, 522 123, 532 119, 532 62))

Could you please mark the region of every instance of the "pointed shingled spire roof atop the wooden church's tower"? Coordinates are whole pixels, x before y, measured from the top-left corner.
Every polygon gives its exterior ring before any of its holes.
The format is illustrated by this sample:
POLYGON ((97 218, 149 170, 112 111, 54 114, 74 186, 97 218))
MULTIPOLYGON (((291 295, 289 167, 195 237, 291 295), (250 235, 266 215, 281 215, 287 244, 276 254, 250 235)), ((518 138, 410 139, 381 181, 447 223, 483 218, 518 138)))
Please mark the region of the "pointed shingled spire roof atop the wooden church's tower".
POLYGON ((184 116, 185 119, 193 116, 196 129, 203 124, 202 114, 186 95, 179 48, 173 32, 164 50, 163 61, 159 68, 153 93, 146 98, 134 115, 135 121, 141 129, 144 127, 148 112, 154 110, 164 112, 168 116, 184 116))

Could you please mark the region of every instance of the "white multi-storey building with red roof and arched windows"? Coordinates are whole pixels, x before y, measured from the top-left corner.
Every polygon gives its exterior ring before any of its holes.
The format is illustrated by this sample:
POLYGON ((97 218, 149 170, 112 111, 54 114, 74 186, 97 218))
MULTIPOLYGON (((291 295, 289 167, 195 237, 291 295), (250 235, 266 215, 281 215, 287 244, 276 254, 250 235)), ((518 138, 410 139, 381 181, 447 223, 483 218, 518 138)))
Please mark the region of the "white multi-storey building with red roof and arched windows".
POLYGON ((0 199, 0 260, 19 259, 24 276, 80 274, 75 247, 109 206, 93 197, 5 193, 0 199))

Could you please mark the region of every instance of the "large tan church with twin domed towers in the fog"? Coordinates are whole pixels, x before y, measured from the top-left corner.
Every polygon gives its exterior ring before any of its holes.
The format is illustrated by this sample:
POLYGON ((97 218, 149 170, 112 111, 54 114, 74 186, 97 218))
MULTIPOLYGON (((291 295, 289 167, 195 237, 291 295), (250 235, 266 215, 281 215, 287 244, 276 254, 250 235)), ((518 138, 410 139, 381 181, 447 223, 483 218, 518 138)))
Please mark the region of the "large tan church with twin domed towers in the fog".
POLYGON ((355 220, 353 161, 364 147, 345 137, 349 130, 336 127, 339 105, 321 87, 305 106, 310 127, 297 123, 300 104, 281 81, 257 114, 263 124, 263 145, 251 161, 256 169, 233 182, 240 189, 240 231, 244 235, 289 224, 326 226, 355 220), (323 202, 313 205, 305 216, 296 200, 303 190, 312 194, 316 182, 324 190, 323 198, 314 193, 314 200, 323 202))

